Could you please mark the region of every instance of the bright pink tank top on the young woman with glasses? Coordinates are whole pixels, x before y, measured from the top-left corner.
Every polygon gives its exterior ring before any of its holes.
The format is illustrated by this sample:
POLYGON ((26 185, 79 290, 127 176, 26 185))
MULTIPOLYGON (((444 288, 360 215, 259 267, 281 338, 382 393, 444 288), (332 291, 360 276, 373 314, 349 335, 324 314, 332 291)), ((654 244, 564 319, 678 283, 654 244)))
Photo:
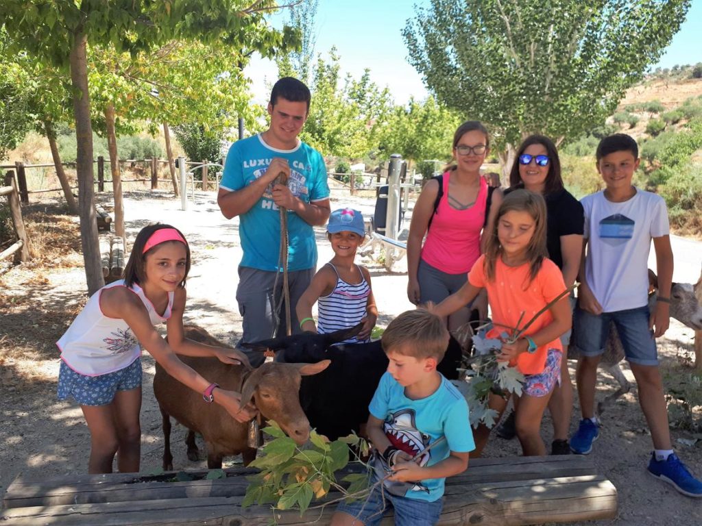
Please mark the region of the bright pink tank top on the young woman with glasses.
POLYGON ((444 195, 432 219, 421 258, 446 274, 466 274, 480 257, 480 232, 485 222, 487 183, 480 177, 475 204, 466 210, 449 205, 451 172, 444 173, 444 195))

